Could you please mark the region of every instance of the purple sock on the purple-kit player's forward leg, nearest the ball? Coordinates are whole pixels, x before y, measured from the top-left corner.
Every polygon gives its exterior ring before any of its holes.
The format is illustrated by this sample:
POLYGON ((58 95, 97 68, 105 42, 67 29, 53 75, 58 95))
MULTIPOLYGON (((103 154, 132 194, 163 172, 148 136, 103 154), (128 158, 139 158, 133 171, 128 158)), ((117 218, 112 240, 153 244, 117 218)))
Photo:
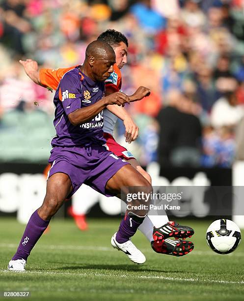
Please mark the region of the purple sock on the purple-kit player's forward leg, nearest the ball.
POLYGON ((129 239, 136 233, 137 228, 143 220, 144 217, 126 215, 119 225, 119 230, 116 234, 116 241, 118 241, 118 243, 129 241, 129 239))

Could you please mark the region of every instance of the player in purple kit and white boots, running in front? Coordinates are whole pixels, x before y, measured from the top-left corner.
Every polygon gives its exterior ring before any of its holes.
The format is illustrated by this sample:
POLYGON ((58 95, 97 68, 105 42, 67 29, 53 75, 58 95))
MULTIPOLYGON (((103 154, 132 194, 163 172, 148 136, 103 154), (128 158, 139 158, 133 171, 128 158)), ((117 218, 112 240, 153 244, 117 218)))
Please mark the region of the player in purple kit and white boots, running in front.
MULTIPOLYGON (((82 183, 106 196, 119 195, 128 186, 134 186, 137 193, 152 192, 150 183, 131 164, 103 146, 103 109, 109 104, 124 106, 129 102, 129 97, 122 92, 103 97, 104 81, 113 72, 115 53, 107 43, 93 41, 85 55, 82 66, 64 74, 54 95, 56 136, 51 143, 52 167, 46 196, 42 206, 31 215, 17 252, 8 264, 9 270, 25 271, 27 257, 51 218, 82 183)), ((144 96, 149 93, 145 88, 144 96)), ((126 215, 115 236, 116 248, 138 264, 146 259, 130 238, 145 215, 146 211, 126 215)))

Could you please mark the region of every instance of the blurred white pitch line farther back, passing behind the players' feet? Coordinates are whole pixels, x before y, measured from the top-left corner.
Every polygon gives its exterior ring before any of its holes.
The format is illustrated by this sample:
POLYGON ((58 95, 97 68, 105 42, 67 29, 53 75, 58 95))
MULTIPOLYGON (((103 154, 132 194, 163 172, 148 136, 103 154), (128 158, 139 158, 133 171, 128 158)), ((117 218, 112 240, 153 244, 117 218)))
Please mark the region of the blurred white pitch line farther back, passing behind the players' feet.
MULTIPOLYGON (((0 248, 17 248, 18 245, 14 243, 0 243, 0 248)), ((42 248, 45 250, 84 250, 84 251, 99 251, 99 252, 114 252, 114 249, 112 247, 103 247, 103 246, 96 246, 96 245, 61 245, 61 244, 42 244, 37 245, 36 249, 40 250, 42 248)), ((152 253, 153 251, 148 249, 140 249, 144 253, 152 253)), ((217 256, 213 251, 199 251, 199 250, 193 250, 189 255, 209 255, 209 256, 217 256)), ((189 256, 188 255, 188 256, 189 256)), ((223 255, 224 256, 224 255, 223 255)), ((244 253, 230 253, 225 256, 233 256, 233 257, 244 257, 244 253)))

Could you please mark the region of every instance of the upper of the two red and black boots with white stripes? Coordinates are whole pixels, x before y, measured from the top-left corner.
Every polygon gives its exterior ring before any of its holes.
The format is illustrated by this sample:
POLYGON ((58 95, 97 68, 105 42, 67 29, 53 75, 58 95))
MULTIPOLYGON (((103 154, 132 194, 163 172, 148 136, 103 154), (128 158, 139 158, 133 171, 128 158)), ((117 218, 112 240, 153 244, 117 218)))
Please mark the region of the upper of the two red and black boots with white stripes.
POLYGON ((174 221, 169 221, 159 228, 153 229, 153 240, 165 240, 174 237, 175 239, 190 238, 194 234, 194 230, 188 226, 182 226, 174 221))

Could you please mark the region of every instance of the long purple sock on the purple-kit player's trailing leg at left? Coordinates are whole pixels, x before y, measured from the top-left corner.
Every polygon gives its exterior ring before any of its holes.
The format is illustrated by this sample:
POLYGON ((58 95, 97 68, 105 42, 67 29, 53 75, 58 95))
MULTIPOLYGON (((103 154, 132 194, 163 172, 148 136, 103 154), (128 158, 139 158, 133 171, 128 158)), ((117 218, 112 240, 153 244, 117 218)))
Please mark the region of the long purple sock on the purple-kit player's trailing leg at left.
POLYGON ((37 210, 30 216, 24 235, 12 260, 27 260, 30 251, 33 249, 43 232, 47 229, 49 222, 50 220, 41 219, 37 210))

